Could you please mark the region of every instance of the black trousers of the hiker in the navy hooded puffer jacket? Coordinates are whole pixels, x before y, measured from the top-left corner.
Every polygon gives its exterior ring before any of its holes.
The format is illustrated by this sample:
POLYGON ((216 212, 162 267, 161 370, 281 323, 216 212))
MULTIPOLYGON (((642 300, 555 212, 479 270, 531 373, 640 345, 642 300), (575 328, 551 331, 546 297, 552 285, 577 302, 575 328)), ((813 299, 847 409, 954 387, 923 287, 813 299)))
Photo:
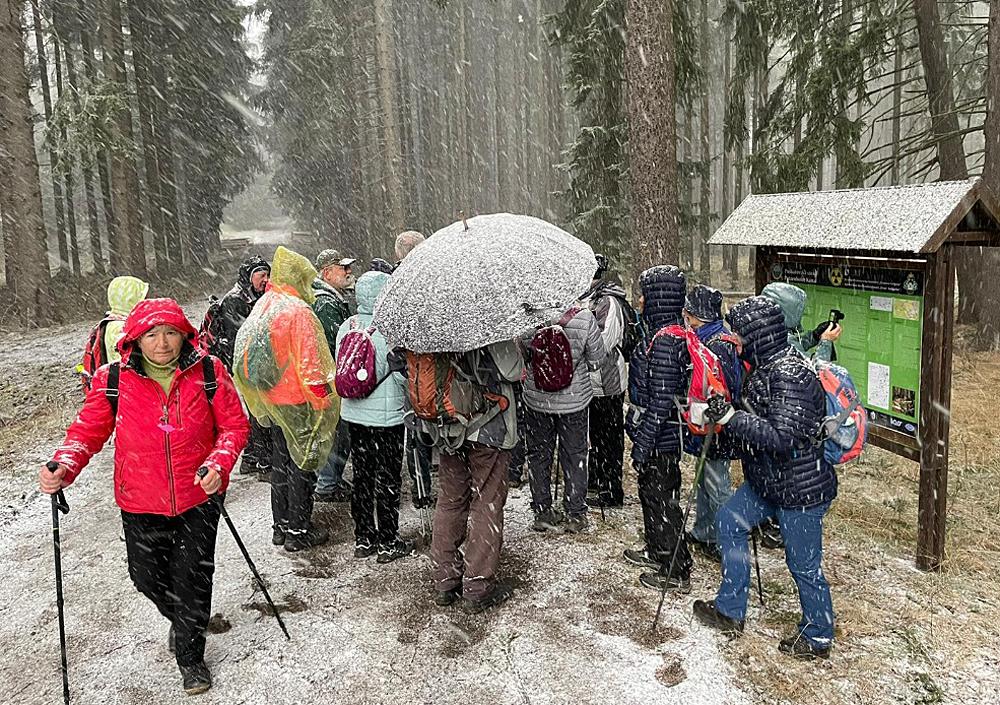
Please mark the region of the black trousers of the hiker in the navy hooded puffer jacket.
POLYGON ((693 562, 684 539, 684 509, 681 507, 680 454, 654 455, 649 462, 636 468, 639 480, 639 501, 642 503, 642 523, 646 533, 646 552, 666 571, 678 542, 673 575, 691 575, 693 562))

